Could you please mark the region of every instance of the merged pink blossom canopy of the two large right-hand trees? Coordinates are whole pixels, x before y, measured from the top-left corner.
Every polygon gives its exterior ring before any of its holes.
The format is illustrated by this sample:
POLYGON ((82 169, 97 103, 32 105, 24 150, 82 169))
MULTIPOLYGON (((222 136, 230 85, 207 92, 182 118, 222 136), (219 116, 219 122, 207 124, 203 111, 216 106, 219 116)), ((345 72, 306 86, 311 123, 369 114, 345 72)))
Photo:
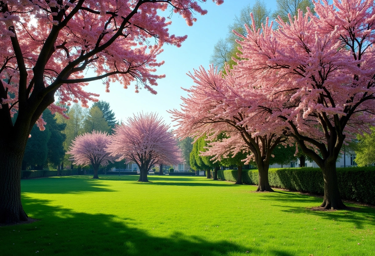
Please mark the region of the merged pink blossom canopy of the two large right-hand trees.
POLYGON ((246 37, 234 31, 241 54, 226 74, 213 66, 189 73, 189 96, 171 111, 178 135, 288 136, 323 166, 354 134, 368 132, 375 125, 374 1, 314 4, 316 15, 299 10, 277 28, 267 19, 256 29, 253 19, 246 37))

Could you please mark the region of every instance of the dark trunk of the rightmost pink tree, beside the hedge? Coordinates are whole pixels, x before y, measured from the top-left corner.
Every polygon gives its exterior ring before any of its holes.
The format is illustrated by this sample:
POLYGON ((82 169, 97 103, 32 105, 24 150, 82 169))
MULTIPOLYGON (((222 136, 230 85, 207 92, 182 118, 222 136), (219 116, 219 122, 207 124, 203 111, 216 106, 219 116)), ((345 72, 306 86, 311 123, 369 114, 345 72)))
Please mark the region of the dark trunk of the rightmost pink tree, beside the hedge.
POLYGON ((347 208, 341 201, 339 187, 337 186, 336 162, 325 162, 321 167, 324 179, 324 197, 320 205, 322 210, 339 210, 347 208))

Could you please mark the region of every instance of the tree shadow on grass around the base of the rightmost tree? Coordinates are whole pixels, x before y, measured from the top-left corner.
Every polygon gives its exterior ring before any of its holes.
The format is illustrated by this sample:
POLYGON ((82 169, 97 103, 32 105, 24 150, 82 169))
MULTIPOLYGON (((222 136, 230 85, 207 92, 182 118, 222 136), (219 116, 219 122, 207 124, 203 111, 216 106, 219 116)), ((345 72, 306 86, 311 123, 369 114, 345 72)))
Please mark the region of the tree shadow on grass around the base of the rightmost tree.
POLYGON ((273 206, 282 207, 284 212, 295 212, 321 217, 327 220, 334 220, 337 222, 353 223, 356 228, 364 228, 365 226, 373 226, 375 228, 375 208, 345 203, 350 208, 347 210, 335 211, 313 211, 311 207, 318 206, 322 203, 323 198, 304 195, 295 192, 276 191, 275 193, 267 193, 263 200, 272 200, 275 202, 290 202, 291 205, 295 203, 304 203, 306 207, 290 206, 273 204, 273 206))

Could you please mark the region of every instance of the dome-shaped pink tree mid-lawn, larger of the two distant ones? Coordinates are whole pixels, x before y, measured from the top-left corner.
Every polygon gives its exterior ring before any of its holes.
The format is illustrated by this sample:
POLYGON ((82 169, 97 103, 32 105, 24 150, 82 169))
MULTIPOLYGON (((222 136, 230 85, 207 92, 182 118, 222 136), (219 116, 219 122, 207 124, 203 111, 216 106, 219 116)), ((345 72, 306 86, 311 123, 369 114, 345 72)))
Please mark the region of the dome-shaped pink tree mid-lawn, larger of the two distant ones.
POLYGON ((108 152, 118 160, 135 162, 140 171, 139 182, 148 182, 147 172, 154 164, 176 164, 181 160, 177 140, 169 126, 155 113, 139 113, 116 125, 108 152))

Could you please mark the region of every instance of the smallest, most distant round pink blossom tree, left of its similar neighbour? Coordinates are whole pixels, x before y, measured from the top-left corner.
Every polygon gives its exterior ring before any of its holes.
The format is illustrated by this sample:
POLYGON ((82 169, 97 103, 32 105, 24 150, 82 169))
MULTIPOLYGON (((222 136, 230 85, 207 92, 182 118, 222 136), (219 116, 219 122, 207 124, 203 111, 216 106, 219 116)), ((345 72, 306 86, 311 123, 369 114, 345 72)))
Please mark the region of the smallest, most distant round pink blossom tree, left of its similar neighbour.
POLYGON ((99 167, 107 166, 110 162, 114 162, 114 157, 110 156, 110 153, 106 151, 110 141, 111 137, 107 132, 87 132, 75 137, 66 153, 72 155, 70 159, 74 161, 74 164, 83 166, 91 164, 94 170, 93 179, 99 179, 99 167))

